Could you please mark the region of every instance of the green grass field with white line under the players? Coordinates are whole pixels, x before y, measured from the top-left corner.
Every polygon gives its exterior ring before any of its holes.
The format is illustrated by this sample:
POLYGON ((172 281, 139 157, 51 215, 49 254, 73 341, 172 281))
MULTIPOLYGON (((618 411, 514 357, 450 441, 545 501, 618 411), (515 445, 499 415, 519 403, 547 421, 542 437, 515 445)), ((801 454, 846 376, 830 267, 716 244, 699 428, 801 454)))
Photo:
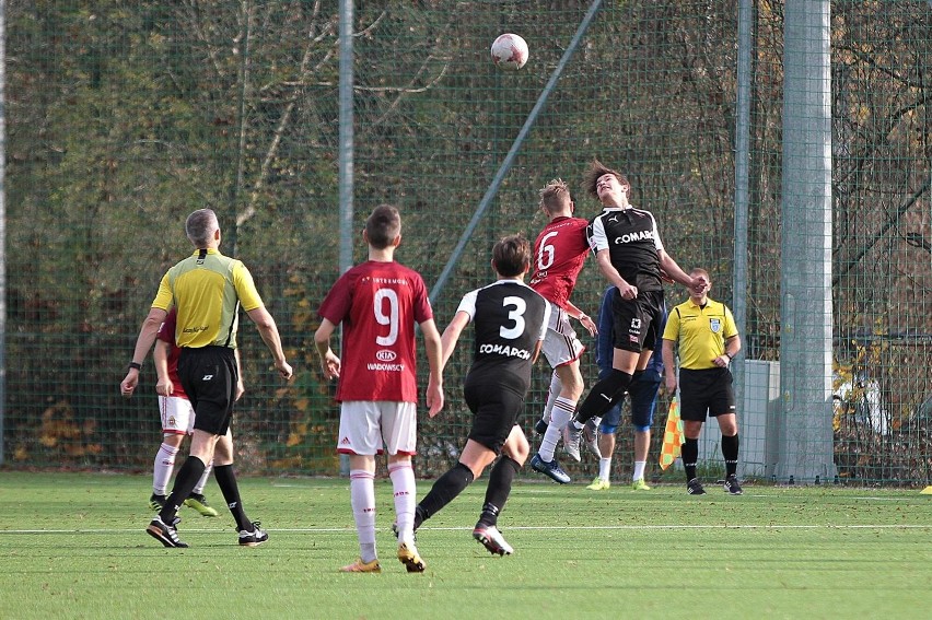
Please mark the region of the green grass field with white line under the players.
MULTIPOLYGON (((183 508, 189 549, 143 533, 150 478, 0 472, 0 618, 925 618, 932 496, 839 487, 679 484, 634 493, 517 483, 499 520, 514 555, 470 536, 484 477, 394 558, 391 483, 376 483, 378 575, 358 554, 347 480, 241 481, 270 539, 236 543, 229 512, 183 508)), ((429 488, 421 481, 422 496, 429 488)), ((220 507, 214 484, 208 498, 220 507)))

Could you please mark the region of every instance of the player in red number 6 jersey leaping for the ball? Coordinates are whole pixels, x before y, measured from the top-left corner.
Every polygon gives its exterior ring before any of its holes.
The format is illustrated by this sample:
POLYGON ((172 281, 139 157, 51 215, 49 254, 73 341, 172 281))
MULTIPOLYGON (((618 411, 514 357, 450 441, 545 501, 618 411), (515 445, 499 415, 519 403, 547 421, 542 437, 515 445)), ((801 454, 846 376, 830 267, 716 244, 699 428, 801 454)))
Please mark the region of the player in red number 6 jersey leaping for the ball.
MULTIPOLYGON (((540 209, 549 222, 534 243, 534 274, 529 285, 550 303, 544 355, 554 375, 541 419, 541 426, 549 425, 537 454, 531 459, 531 467, 564 484, 570 477, 557 463, 554 452, 583 391, 579 360, 585 350, 573 331, 570 317, 579 319, 591 335, 596 331, 595 323, 570 301, 590 251, 585 236, 589 222, 572 217, 574 207, 570 190, 560 179, 551 180, 540 190, 540 209)), ((580 460, 579 451, 569 454, 580 460)))

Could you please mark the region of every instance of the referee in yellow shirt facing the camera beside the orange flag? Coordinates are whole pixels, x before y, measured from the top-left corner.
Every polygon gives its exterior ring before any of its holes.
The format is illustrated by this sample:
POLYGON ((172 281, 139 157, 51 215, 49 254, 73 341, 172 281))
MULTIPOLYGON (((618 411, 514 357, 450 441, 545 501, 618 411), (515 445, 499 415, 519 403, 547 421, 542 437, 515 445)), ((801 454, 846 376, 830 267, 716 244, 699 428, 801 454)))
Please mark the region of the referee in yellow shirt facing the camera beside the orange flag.
POLYGON ((663 330, 663 363, 666 389, 677 387, 675 349, 679 350, 679 413, 686 443, 681 447, 686 469, 686 490, 690 495, 704 495, 706 489, 696 476, 699 458, 699 433, 706 417, 719 420, 722 431, 722 456, 725 457, 725 491, 741 495, 737 481, 738 436, 735 418, 735 393, 731 361, 741 351, 735 319, 729 307, 709 299, 712 280, 704 269, 689 272, 698 286, 689 290, 689 301, 674 307, 663 330))

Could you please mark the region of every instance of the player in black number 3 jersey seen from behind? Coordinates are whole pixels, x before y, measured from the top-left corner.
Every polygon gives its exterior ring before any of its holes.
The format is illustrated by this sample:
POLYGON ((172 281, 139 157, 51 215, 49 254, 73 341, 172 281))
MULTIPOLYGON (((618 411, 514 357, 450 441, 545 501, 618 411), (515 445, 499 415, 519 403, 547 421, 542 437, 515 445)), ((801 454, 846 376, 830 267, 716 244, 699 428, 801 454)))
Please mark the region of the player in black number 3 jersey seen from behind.
MULTIPOLYGON (((514 475, 531 446, 517 417, 531 386, 531 366, 540 353, 550 305, 524 283, 531 268, 531 246, 520 235, 506 236, 492 248, 498 281, 467 293, 443 331, 446 365, 459 334, 471 321, 476 339, 473 365, 463 384, 473 428, 459 463, 433 483, 415 511, 415 528, 452 502, 501 455, 489 473, 489 486, 473 538, 491 553, 510 555, 512 547, 499 531, 498 516, 511 493, 514 475)), ((433 413, 431 413, 433 416, 433 413)))

